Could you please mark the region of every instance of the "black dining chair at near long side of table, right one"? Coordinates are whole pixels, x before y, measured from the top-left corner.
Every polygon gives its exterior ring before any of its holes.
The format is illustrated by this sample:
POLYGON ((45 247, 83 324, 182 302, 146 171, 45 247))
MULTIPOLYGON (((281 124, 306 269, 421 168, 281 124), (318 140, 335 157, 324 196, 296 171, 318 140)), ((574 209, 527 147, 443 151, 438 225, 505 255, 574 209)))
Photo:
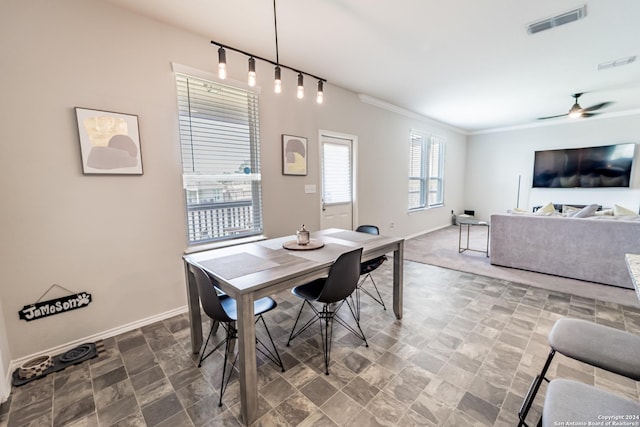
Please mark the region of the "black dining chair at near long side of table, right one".
POLYGON ((338 257, 329 270, 329 275, 324 278, 316 279, 313 282, 296 286, 291 292, 302 298, 302 306, 298 312, 298 317, 291 329, 291 335, 287 341, 287 346, 291 340, 306 331, 317 320, 320 320, 320 335, 322 338, 322 350, 324 354, 325 374, 329 375, 329 361, 331 353, 331 337, 333 334, 333 321, 337 321, 347 330, 355 334, 364 341, 369 347, 364 332, 360 328, 360 322, 356 317, 354 307, 349 302, 349 297, 356 290, 358 279, 360 277, 360 259, 362 257, 362 248, 345 252, 338 257), (320 307, 314 305, 320 303, 320 307), (344 319, 338 316, 340 308, 347 304, 351 315, 355 320, 357 330, 349 325, 344 319), (308 305, 313 310, 313 317, 296 331, 296 326, 300 320, 300 315, 304 306, 308 305))

